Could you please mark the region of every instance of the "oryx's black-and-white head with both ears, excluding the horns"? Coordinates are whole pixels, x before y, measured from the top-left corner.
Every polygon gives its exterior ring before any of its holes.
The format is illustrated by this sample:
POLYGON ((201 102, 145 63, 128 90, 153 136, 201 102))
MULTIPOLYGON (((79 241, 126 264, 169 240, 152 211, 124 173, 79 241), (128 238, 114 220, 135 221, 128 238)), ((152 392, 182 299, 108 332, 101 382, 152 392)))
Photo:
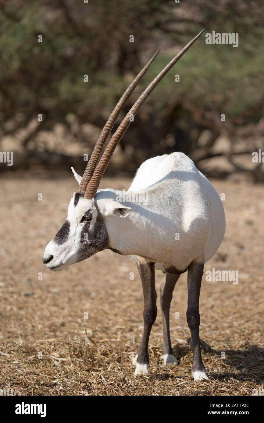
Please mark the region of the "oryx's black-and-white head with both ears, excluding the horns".
MULTIPOLYGON (((73 168, 72 171, 80 182, 81 176, 73 168)), ((42 260, 49 269, 62 270, 111 247, 105 219, 126 217, 131 208, 114 201, 114 190, 99 190, 97 196, 100 193, 99 199, 96 196, 88 198, 80 191, 74 193, 67 219, 44 251, 42 260)))

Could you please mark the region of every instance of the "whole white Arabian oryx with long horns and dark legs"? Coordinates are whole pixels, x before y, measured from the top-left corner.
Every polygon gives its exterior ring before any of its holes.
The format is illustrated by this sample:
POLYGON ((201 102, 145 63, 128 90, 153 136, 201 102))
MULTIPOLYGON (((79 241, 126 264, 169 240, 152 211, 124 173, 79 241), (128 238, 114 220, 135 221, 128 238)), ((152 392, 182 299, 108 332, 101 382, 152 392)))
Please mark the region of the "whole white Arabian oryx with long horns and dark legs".
POLYGON ((203 33, 201 31, 158 74, 139 96, 106 146, 119 113, 142 79, 158 52, 131 82, 117 103, 97 140, 83 173, 72 169, 79 183, 69 202, 68 216, 61 229, 47 244, 43 263, 53 271, 106 248, 136 261, 144 295, 144 330, 138 354, 134 359, 135 374, 147 374, 148 340, 156 320, 155 264, 166 273, 161 284, 161 310, 164 325, 164 363, 177 363, 172 352, 169 310, 172 291, 179 275, 188 270, 187 322, 192 335, 194 360, 192 377, 208 379, 200 352, 199 295, 203 266, 219 248, 225 232, 225 215, 217 192, 183 153, 164 154, 144 162, 126 192, 98 190, 109 160, 147 97, 203 33), (147 201, 140 201, 147 193, 147 201), (140 195, 142 194, 142 195, 140 195), (125 201, 127 197, 133 201, 125 201), (139 199, 139 201, 134 199, 139 199), (179 236, 175 236, 175 234, 179 236))

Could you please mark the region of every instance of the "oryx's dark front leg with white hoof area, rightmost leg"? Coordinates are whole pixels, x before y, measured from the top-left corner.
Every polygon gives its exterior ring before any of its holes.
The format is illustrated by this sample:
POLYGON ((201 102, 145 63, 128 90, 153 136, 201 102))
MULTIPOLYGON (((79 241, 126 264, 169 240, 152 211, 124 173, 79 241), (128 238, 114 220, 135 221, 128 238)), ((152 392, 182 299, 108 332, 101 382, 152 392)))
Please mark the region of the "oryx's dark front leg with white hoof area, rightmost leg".
POLYGON ((199 297, 203 276, 203 264, 192 262, 188 267, 188 308, 187 323, 192 335, 193 345, 193 364, 192 377, 195 380, 208 379, 206 370, 203 365, 201 348, 200 348, 200 314, 199 314, 199 297))

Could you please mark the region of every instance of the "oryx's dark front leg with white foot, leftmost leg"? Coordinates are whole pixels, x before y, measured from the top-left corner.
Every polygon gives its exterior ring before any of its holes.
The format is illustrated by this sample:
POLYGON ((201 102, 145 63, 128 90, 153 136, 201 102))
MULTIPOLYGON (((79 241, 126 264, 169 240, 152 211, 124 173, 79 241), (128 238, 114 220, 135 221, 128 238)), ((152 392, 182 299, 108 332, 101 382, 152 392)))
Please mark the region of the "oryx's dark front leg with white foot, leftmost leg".
POLYGON ((157 316, 156 290, 155 290, 155 270, 154 263, 146 259, 139 258, 140 277, 142 281, 144 297, 144 329, 138 353, 133 360, 136 365, 135 374, 148 374, 149 356, 147 352, 150 331, 157 316))

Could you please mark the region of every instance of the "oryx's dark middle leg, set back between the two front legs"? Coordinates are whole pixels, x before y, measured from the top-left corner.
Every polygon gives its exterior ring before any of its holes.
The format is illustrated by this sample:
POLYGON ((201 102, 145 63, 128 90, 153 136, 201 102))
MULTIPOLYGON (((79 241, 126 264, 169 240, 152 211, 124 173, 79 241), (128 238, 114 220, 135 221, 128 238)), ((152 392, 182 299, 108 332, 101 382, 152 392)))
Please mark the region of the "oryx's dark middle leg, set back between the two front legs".
POLYGON ((163 322, 163 350, 161 359, 164 360, 164 364, 178 364, 178 361, 173 354, 170 341, 170 303, 172 300, 172 291, 179 277, 180 275, 171 275, 170 273, 167 273, 165 280, 162 281, 160 287, 160 302, 163 322))

